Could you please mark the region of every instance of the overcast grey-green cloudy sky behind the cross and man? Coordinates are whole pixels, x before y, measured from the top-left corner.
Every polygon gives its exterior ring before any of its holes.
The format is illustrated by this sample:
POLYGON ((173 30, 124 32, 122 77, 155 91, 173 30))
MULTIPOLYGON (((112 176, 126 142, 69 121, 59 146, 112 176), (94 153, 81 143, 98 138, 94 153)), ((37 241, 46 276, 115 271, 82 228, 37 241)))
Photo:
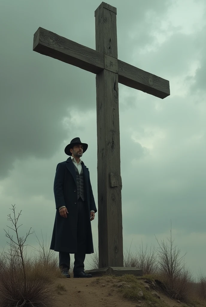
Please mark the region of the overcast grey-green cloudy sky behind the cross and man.
MULTIPOLYGON (((52 235, 53 181, 65 146, 89 144, 97 203, 95 75, 32 51, 43 27, 95 49, 100 1, 2 0, 0 4, 0 249, 11 204, 30 227, 52 235)), ((111 0, 118 58, 170 81, 165 99, 119 84, 124 248, 173 238, 194 275, 206 274, 206 3, 111 0)), ((92 222, 98 246, 97 215, 92 222)), ((37 246, 34 235, 28 244, 37 246)), ((87 261, 90 256, 87 256, 87 261)))

